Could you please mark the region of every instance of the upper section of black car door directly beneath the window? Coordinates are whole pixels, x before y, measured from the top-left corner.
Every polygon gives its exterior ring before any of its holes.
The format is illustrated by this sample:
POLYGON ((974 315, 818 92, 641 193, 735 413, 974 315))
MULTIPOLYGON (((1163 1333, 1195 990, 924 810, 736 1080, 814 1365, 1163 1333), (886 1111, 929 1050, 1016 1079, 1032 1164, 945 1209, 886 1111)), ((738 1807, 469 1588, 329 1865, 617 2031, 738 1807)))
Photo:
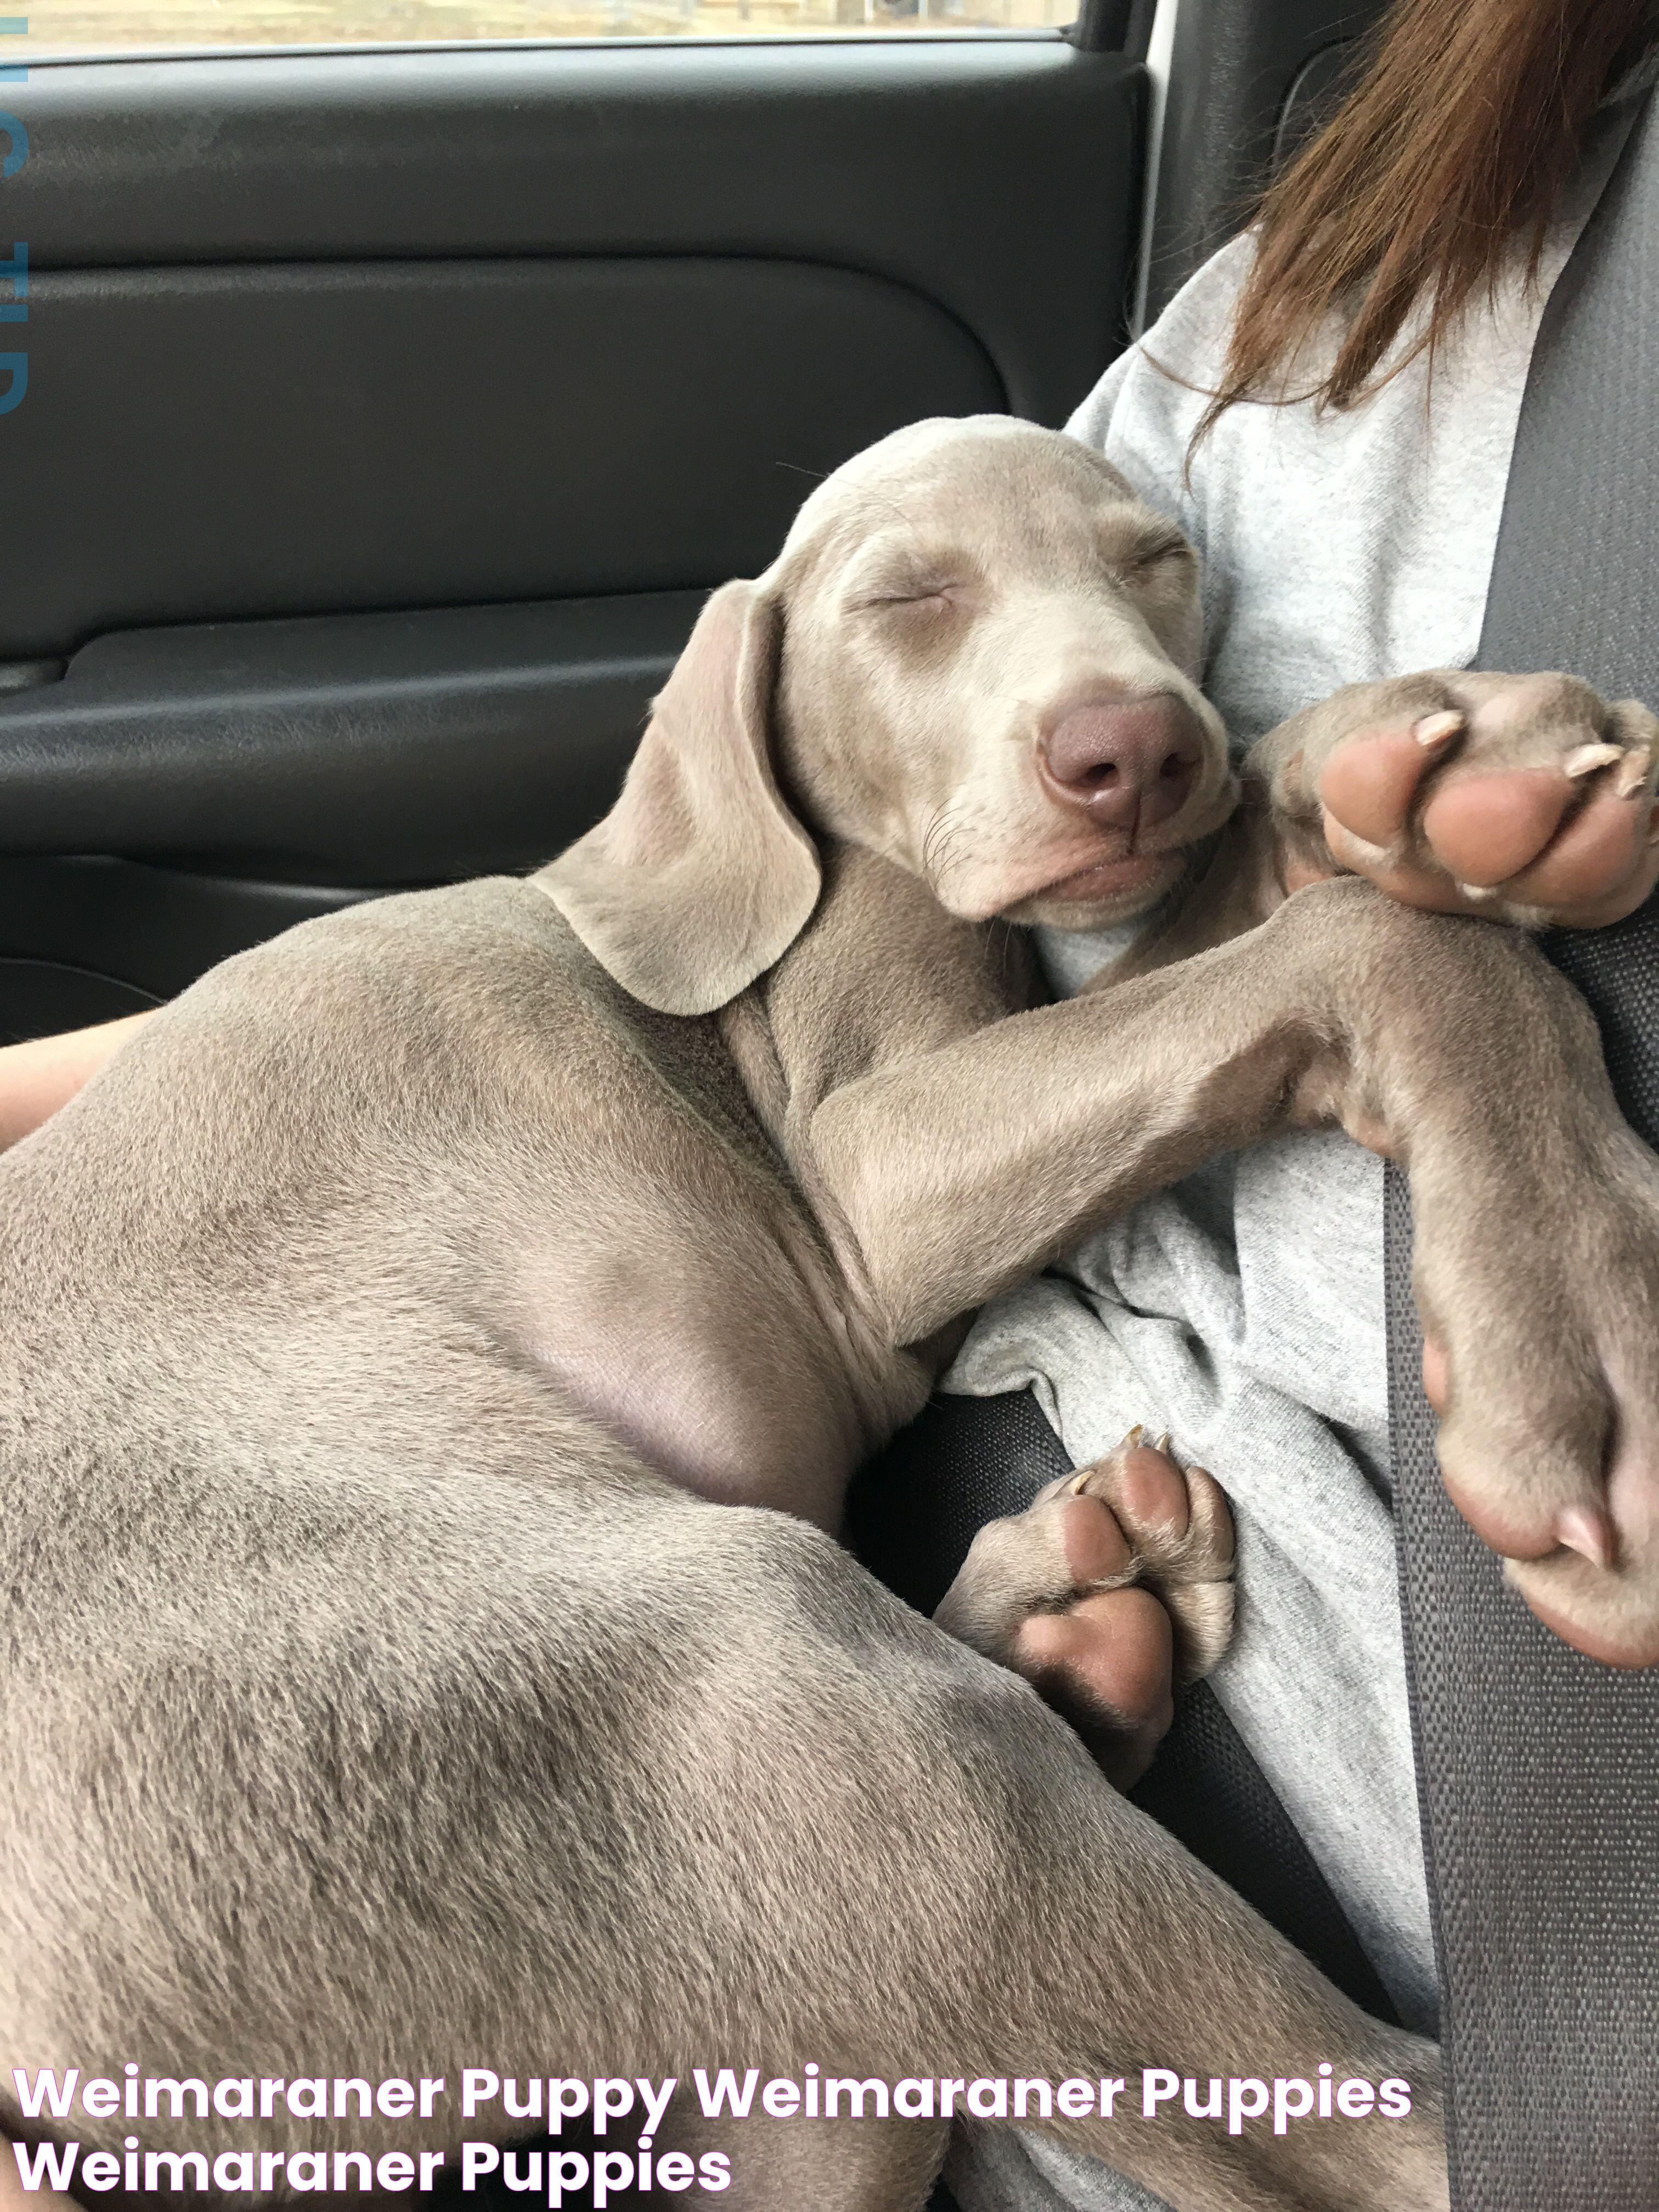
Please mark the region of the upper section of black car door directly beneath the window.
POLYGON ((35 66, 35 270, 732 254, 956 314, 1018 414, 1121 343, 1146 71, 1055 35, 35 66))

